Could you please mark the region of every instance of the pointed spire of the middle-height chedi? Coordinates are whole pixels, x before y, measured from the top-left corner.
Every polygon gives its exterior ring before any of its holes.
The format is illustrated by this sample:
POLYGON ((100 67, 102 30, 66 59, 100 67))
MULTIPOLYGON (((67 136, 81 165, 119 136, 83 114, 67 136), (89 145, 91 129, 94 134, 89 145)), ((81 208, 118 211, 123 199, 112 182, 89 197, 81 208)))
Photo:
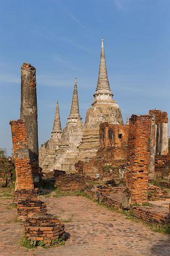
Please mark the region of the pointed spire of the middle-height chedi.
POLYGON ((70 115, 69 115, 68 119, 72 119, 72 118, 82 119, 80 117, 80 112, 79 112, 78 93, 77 93, 77 78, 76 77, 75 77, 74 92, 72 95, 71 110, 70 110, 70 115))

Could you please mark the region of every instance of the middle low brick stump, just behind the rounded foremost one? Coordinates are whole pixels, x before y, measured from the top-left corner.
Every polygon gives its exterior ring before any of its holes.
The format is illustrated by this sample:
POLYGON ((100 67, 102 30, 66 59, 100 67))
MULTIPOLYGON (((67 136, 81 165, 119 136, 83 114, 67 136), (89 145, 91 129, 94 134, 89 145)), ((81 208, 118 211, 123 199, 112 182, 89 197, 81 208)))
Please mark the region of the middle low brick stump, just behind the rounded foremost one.
POLYGON ((46 204, 38 199, 26 199, 17 204, 18 219, 25 220, 33 216, 45 216, 46 204))

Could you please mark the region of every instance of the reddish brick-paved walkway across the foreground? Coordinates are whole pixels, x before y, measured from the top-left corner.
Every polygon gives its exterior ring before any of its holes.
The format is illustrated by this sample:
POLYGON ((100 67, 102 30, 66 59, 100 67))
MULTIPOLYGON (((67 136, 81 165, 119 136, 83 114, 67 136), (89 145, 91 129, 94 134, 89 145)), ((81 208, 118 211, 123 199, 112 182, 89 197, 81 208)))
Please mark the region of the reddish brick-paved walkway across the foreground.
POLYGON ((18 245, 23 225, 16 221, 12 200, 0 200, 1 256, 138 256, 170 255, 170 236, 153 233, 142 223, 95 205, 84 197, 48 197, 48 213, 58 215, 70 234, 66 244, 27 250, 18 245))

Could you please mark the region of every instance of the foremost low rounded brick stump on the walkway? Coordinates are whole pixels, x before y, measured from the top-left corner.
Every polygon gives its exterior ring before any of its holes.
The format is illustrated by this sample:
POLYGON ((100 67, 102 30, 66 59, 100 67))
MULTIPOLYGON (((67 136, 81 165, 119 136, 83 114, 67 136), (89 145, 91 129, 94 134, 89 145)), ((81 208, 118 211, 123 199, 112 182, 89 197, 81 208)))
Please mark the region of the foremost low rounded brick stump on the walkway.
POLYGON ((57 244, 59 237, 64 235, 64 225, 50 214, 27 218, 24 226, 29 240, 43 241, 44 245, 57 244))

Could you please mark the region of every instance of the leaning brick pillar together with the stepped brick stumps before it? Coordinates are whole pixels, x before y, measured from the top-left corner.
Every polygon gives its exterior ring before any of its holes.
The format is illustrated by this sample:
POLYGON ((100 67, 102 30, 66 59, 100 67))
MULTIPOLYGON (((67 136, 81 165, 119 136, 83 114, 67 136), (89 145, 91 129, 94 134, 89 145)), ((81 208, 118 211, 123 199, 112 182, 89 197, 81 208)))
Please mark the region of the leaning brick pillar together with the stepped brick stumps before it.
POLYGON ((46 204, 37 198, 38 188, 34 188, 25 121, 19 119, 10 124, 17 176, 13 202, 17 203, 18 219, 24 221, 28 239, 36 243, 42 241, 44 245, 57 244, 64 236, 64 225, 52 214, 47 214, 46 204))

